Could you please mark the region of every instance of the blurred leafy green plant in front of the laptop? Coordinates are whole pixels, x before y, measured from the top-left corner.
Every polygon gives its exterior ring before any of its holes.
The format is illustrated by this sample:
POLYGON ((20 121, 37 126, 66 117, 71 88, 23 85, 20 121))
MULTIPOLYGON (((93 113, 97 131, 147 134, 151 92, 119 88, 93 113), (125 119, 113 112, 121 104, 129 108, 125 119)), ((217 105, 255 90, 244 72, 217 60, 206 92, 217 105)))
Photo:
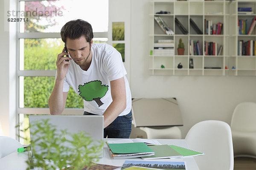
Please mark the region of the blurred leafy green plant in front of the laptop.
MULTIPOLYGON (((17 125, 19 127, 20 125, 17 125)), ((92 144, 93 139, 83 131, 79 133, 68 133, 67 130, 58 131, 55 125, 49 123, 49 119, 42 119, 29 127, 34 127, 34 131, 30 131, 35 139, 30 140, 30 146, 33 153, 31 159, 31 151, 29 151, 29 159, 26 161, 27 170, 82 170, 84 167, 89 169, 93 164, 97 154, 103 146, 103 141, 98 144, 92 144), (41 150, 38 153, 35 146, 41 150), (90 146, 90 147, 88 147, 90 146), (70 152, 72 151, 72 152, 70 152), (44 159, 44 157, 52 157, 52 159, 44 159), (61 158, 61 159, 60 159, 61 158)), ((22 130, 26 132, 28 129, 22 130)), ((22 137, 22 136, 20 136, 22 137)))

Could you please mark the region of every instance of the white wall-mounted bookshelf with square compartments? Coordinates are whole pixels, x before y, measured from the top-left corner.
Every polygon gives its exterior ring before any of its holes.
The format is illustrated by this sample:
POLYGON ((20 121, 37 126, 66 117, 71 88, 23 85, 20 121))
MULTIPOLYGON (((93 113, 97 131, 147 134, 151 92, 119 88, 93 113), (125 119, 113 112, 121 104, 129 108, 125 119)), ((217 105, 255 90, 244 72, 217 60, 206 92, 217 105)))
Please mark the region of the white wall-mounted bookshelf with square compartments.
MULTIPOLYGON (((252 20, 256 16, 256 0, 154 0, 151 2, 151 34, 152 43, 149 55, 149 70, 152 75, 177 75, 177 76, 256 76, 256 56, 239 56, 239 40, 256 40, 256 28, 251 35, 239 35, 237 22, 239 19, 252 20), (252 7, 254 14, 238 14, 238 7, 252 7), (156 14, 159 11, 169 11, 170 14, 156 14), (174 31, 174 35, 167 35, 154 21, 154 16, 160 16, 174 31), (175 17, 187 29, 188 34, 183 34, 175 24, 175 17), (197 34, 190 25, 192 18, 203 34, 197 34), (205 34, 205 20, 212 23, 223 23, 221 34, 205 34), (177 54, 179 39, 185 45, 184 55, 177 54), (158 40, 172 39, 174 41, 174 55, 154 55, 154 43, 158 40), (199 40, 202 55, 189 54, 189 41, 199 40), (220 55, 204 54, 204 42, 217 42, 223 46, 220 55), (189 68, 189 59, 193 59, 194 68, 189 68), (177 68, 181 62, 183 68, 177 68), (165 68, 161 68, 164 65, 165 68), (232 69, 235 67, 235 69, 232 69)), ((250 25, 250 22, 249 24, 250 25)))

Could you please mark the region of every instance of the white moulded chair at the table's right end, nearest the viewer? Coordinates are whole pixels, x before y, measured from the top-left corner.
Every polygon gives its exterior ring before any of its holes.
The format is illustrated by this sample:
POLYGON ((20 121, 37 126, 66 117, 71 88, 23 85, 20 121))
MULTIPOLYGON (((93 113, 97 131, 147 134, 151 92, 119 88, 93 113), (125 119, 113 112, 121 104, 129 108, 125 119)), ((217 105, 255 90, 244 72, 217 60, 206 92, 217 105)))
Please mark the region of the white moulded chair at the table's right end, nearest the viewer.
POLYGON ((192 150, 205 154, 195 156, 200 170, 233 170, 232 135, 227 123, 217 120, 199 122, 191 127, 185 139, 192 150))

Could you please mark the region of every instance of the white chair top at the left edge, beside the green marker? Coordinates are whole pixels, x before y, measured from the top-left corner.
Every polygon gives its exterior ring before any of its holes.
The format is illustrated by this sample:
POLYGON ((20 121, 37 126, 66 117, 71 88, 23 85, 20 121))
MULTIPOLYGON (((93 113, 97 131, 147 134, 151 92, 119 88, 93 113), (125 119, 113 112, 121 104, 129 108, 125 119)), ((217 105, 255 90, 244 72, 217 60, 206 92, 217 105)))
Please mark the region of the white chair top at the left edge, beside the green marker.
POLYGON ((0 158, 9 155, 19 147, 23 147, 23 145, 17 140, 8 136, 0 136, 0 158))

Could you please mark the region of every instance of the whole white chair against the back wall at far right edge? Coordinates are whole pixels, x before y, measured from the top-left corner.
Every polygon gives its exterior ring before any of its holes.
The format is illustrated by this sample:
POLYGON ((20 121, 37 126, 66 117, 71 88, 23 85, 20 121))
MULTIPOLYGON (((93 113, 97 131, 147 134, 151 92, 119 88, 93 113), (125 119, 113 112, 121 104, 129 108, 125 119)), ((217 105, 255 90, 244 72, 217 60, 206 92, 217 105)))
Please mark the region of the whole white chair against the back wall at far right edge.
POLYGON ((256 103, 238 104, 233 112, 230 127, 234 157, 256 158, 256 103))

